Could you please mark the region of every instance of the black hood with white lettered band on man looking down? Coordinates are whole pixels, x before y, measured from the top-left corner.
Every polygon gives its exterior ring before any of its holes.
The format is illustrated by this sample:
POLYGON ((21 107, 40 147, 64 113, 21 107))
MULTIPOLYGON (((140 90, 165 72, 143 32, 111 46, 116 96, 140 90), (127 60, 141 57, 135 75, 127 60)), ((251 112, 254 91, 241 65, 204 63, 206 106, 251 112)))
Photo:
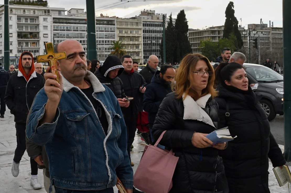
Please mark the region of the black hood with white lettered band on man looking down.
POLYGON ((117 76, 123 73, 124 67, 121 64, 120 59, 117 56, 108 56, 103 63, 100 73, 106 77, 109 71, 116 68, 121 68, 118 71, 117 76))

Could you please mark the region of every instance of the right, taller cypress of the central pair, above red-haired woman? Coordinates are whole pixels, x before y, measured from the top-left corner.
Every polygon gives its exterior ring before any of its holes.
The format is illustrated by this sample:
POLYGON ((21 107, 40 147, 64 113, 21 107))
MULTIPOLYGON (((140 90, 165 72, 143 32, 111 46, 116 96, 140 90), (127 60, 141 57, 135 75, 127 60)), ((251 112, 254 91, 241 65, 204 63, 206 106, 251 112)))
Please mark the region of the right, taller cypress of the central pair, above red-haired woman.
POLYGON ((186 19, 186 14, 184 10, 181 10, 175 22, 175 31, 176 31, 176 46, 175 54, 173 57, 174 62, 180 62, 182 58, 192 52, 191 45, 188 39, 188 21, 186 19))

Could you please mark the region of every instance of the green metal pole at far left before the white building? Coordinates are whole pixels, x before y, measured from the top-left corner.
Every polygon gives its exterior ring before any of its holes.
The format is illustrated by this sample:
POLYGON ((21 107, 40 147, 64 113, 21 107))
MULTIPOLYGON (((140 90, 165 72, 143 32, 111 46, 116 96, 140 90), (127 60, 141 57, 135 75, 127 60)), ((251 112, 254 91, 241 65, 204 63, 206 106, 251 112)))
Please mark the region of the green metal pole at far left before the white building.
POLYGON ((9 50, 9 1, 4 0, 4 64, 3 68, 8 70, 10 64, 9 50))

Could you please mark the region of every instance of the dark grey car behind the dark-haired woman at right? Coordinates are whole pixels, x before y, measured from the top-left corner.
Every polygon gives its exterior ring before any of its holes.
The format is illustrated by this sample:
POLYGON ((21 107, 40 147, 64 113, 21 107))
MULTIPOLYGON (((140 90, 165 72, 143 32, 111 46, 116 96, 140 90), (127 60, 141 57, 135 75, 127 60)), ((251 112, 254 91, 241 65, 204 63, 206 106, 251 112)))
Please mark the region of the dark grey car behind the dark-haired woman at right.
POLYGON ((244 63, 244 67, 246 67, 249 84, 258 83, 255 93, 262 96, 260 103, 268 120, 273 120, 277 114, 283 115, 283 76, 271 68, 258 64, 244 63))

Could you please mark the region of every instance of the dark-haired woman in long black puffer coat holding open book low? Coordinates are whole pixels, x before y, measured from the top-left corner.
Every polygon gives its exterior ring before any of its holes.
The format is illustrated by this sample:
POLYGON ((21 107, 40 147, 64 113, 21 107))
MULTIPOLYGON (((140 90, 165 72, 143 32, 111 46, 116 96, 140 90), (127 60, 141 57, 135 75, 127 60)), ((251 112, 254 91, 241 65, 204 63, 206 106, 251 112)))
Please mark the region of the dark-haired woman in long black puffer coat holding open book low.
POLYGON ((259 97, 248 86, 246 72, 237 63, 222 63, 215 70, 219 96, 219 127, 228 126, 232 136, 221 151, 230 193, 267 193, 268 167, 284 165, 285 159, 270 132, 259 97), (226 116, 229 113, 229 116, 226 116))

